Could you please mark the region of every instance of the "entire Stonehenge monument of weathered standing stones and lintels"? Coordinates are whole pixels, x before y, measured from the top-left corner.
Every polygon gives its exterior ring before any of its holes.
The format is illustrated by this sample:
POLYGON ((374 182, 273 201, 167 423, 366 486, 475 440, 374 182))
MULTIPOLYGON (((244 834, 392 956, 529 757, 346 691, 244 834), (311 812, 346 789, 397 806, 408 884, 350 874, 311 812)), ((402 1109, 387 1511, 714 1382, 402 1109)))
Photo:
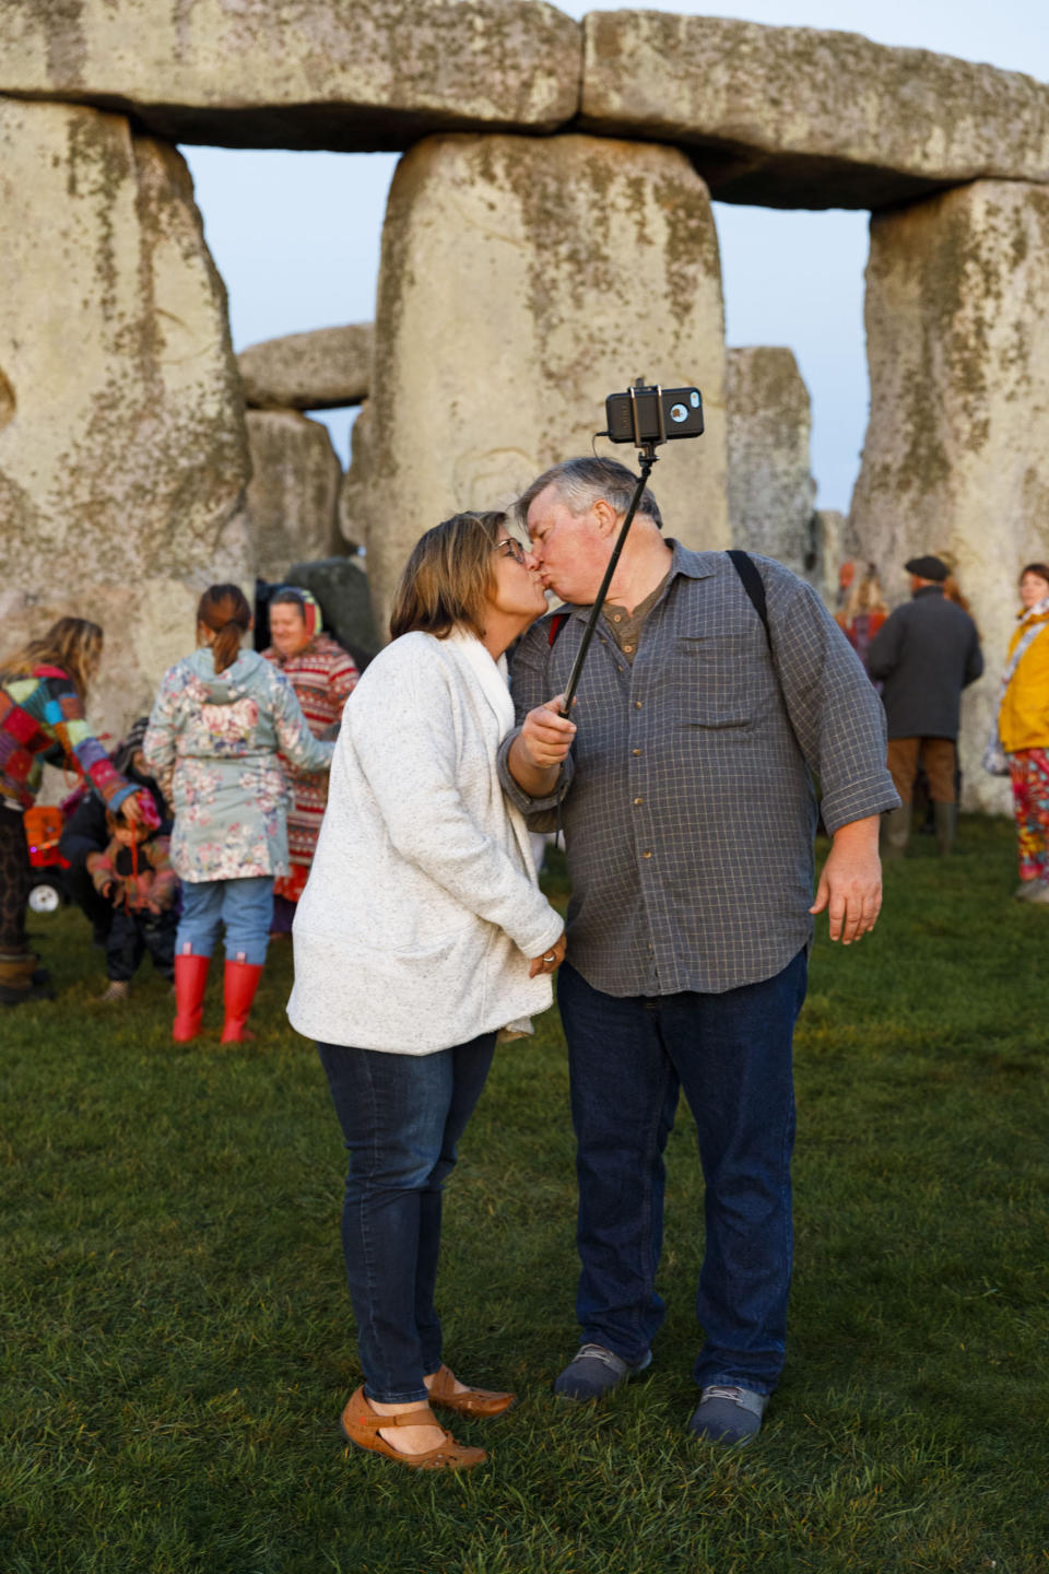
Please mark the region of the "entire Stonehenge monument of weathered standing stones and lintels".
POLYGON ((964 801, 1003 807, 975 760, 1016 571, 1046 556, 1044 83, 546 0, 0 0, 0 194, 5 639, 104 622, 110 730, 184 652, 201 584, 330 549, 337 512, 382 622, 412 532, 585 452, 643 373, 703 389, 708 433, 653 478, 689 543, 766 543, 824 593, 848 546, 896 598, 904 557, 955 556, 988 653, 964 801), (237 364, 175 142, 406 154, 374 345, 349 324, 237 364), (871 211, 848 524, 812 513, 783 353, 727 356, 711 198, 871 211), (302 412, 365 397, 333 502, 302 412))

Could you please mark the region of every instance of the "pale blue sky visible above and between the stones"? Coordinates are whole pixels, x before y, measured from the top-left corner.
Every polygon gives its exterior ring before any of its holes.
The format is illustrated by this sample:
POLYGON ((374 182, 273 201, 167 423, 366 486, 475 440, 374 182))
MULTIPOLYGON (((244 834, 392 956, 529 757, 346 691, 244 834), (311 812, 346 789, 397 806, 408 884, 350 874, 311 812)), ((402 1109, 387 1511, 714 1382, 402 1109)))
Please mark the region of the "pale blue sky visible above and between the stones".
MULTIPOLYGON (((684 11, 662 0, 634 9, 684 11)), ((569 0, 560 9, 620 9, 569 0)), ((749 0, 709 14, 829 27, 936 49, 1049 82, 1049 0, 749 0)), ((368 321, 393 154, 184 148, 237 349, 280 334, 368 321)), ((730 345, 790 345, 813 400, 813 474, 824 508, 848 510, 867 422, 867 214, 716 203, 730 345)), ((604 395, 604 389, 598 395, 604 395)), ((599 398, 596 409, 599 409, 599 398)), ((326 417, 346 463, 349 414, 326 417)))

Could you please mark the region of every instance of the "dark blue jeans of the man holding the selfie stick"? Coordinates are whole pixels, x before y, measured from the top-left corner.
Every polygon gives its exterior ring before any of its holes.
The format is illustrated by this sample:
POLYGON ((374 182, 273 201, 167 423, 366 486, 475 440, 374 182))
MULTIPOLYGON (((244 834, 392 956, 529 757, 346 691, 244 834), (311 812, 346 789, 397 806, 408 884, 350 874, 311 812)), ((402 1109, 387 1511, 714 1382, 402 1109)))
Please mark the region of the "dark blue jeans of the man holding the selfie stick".
POLYGON ((662 1324, 664 1149, 684 1088, 706 1180, 695 1380, 775 1388, 793 1256, 791 1042, 805 982, 804 951, 775 977, 723 995, 617 999, 561 968, 587 1341, 635 1363, 662 1324))

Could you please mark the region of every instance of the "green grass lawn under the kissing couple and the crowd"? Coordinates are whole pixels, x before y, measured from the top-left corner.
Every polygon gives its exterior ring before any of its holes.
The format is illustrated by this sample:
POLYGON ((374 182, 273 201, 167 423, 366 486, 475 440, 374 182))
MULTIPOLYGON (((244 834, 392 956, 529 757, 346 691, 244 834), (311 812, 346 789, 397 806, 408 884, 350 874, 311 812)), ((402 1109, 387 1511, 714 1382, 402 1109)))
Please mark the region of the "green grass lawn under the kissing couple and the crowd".
POLYGON ((522 1402, 456 1428, 491 1447, 462 1478, 351 1456, 337 1429, 359 1380, 343 1154, 283 1022, 288 948, 256 1044, 179 1048, 148 963, 107 1015, 83 922, 38 919, 61 998, 0 1017, 0 1571, 1049 1571, 1049 910, 1013 881, 1010 828, 970 820, 951 861, 918 837, 887 870, 873 937, 816 944, 790 1360, 742 1453, 684 1429, 687 1111, 651 1373, 602 1407, 552 1399, 576 1343, 555 1014, 499 1053, 442 1306, 450 1362, 522 1402))

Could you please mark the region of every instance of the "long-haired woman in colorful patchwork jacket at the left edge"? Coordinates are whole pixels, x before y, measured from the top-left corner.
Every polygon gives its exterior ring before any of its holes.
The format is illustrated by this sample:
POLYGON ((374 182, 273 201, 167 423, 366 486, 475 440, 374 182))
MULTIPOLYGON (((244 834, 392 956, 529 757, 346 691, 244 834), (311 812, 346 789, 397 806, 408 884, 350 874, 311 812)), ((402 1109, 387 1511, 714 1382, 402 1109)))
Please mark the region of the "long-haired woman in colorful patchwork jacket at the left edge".
POLYGON ((0 661, 0 1004, 53 999, 25 935, 30 859, 22 812, 36 798, 42 759, 82 774, 105 807, 138 820, 134 782, 124 781, 91 733, 83 711, 102 661, 102 630, 83 617, 60 617, 0 661))

